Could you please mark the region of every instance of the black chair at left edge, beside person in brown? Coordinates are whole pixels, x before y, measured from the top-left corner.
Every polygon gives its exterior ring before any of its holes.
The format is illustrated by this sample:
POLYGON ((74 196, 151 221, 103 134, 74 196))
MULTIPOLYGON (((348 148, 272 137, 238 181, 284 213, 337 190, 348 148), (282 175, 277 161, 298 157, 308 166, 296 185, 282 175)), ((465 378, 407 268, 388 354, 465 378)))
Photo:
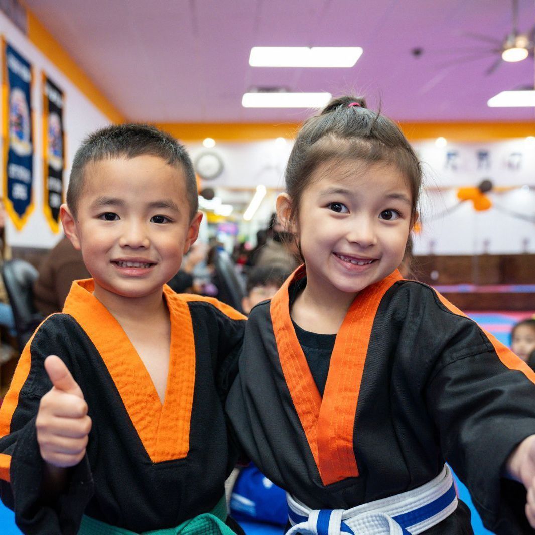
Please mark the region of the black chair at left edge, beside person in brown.
POLYGON ((36 327, 44 319, 36 310, 33 301, 33 283, 38 274, 34 266, 25 260, 7 260, 2 264, 2 278, 13 310, 17 344, 21 353, 36 327))

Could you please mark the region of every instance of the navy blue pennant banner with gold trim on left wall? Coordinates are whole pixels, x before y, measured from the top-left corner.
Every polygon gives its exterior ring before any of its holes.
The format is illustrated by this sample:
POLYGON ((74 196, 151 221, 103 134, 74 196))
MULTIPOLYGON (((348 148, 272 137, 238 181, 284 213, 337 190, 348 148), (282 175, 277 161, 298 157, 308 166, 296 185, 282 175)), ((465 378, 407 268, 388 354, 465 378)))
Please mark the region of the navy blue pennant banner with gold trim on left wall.
POLYGON ((2 49, 4 203, 20 231, 33 211, 32 66, 4 40, 2 49))

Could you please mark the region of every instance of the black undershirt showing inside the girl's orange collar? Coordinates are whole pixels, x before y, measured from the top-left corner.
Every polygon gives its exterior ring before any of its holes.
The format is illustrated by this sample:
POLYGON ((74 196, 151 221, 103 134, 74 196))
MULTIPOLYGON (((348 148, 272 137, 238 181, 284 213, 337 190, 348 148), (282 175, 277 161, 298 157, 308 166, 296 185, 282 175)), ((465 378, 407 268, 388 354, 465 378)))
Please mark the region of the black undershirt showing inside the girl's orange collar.
MULTIPOLYGON (((290 308, 292 308, 296 297, 302 292, 306 284, 307 279, 302 278, 288 288, 290 308)), ((336 334, 311 333, 302 329, 294 320, 292 320, 292 324, 297 341, 299 341, 299 345, 307 359, 307 364, 318 388, 319 395, 323 398, 336 334)))

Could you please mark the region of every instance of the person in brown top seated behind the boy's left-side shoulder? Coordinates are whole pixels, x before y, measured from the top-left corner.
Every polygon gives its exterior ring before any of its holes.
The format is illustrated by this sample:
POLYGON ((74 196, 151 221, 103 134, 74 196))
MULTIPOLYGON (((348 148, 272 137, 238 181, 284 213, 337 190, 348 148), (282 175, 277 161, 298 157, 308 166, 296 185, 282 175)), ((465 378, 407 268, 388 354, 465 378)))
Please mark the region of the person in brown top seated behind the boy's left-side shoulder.
POLYGON ((39 277, 33 286, 35 307, 44 316, 61 312, 72 282, 89 277, 81 251, 64 236, 39 266, 39 277))

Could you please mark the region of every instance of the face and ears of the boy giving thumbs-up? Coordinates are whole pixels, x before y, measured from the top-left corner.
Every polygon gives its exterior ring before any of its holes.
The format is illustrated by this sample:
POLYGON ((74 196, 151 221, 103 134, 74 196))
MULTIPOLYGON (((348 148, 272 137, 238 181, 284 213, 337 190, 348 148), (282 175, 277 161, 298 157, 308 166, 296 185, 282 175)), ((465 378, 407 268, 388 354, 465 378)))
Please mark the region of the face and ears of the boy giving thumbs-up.
POLYGON ((65 205, 61 213, 104 304, 117 295, 161 299, 202 218, 190 220, 182 170, 148 155, 89 164, 77 217, 65 205))

